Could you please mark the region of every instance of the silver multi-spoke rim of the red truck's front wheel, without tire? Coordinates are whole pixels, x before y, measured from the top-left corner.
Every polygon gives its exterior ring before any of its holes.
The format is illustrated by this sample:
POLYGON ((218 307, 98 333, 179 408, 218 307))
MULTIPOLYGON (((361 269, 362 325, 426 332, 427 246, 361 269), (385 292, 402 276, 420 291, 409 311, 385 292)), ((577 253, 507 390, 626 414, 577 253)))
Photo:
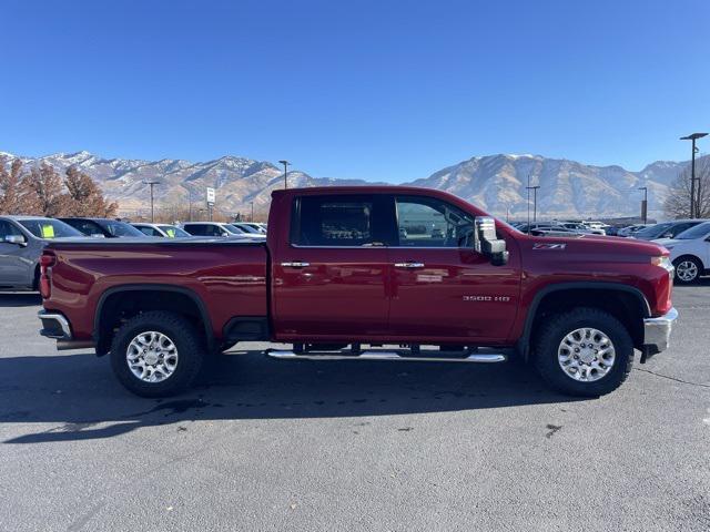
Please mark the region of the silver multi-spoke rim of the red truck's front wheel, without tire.
POLYGON ((615 358, 609 337, 590 327, 572 330, 557 349, 557 361, 565 375, 582 382, 604 378, 613 367, 615 358))

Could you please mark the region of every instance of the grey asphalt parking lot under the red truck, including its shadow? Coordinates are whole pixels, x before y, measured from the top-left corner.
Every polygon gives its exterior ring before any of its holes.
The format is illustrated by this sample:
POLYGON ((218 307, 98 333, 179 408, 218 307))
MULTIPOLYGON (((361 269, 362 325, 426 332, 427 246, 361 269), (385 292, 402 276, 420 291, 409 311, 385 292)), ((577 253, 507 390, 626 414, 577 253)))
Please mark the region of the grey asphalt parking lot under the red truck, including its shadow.
POLYGON ((671 349, 600 399, 516 365, 250 345, 161 401, 0 294, 0 530, 707 531, 710 282, 674 304, 671 349))

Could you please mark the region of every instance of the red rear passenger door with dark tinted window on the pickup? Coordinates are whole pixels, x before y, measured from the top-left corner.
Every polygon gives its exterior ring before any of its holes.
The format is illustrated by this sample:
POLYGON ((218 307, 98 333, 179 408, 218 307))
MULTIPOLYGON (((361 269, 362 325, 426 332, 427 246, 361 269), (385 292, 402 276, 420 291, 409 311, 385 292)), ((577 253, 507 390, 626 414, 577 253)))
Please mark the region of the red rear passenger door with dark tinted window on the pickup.
POLYGON ((384 198, 337 194, 293 200, 290 234, 281 235, 272 249, 277 339, 359 340, 387 334, 384 198))

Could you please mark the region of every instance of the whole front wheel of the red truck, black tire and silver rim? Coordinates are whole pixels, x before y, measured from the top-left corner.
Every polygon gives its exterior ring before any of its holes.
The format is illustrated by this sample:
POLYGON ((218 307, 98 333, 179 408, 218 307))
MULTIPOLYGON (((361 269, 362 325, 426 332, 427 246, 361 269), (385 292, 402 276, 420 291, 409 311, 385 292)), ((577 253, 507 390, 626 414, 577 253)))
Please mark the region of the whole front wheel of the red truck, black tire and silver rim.
POLYGON ((596 308, 551 317, 534 348, 540 377, 571 396, 598 397, 616 390, 633 364, 633 342, 626 327, 596 308))

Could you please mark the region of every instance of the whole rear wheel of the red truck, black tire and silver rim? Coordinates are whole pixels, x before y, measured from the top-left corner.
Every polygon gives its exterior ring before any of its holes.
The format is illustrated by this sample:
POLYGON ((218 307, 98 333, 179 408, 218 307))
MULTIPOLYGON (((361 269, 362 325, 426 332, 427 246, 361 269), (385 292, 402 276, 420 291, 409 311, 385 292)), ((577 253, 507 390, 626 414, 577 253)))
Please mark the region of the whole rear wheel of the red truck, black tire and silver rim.
POLYGON ((166 397, 190 387, 205 358, 202 338, 175 313, 149 311, 128 320, 111 345, 119 381, 142 397, 166 397))

